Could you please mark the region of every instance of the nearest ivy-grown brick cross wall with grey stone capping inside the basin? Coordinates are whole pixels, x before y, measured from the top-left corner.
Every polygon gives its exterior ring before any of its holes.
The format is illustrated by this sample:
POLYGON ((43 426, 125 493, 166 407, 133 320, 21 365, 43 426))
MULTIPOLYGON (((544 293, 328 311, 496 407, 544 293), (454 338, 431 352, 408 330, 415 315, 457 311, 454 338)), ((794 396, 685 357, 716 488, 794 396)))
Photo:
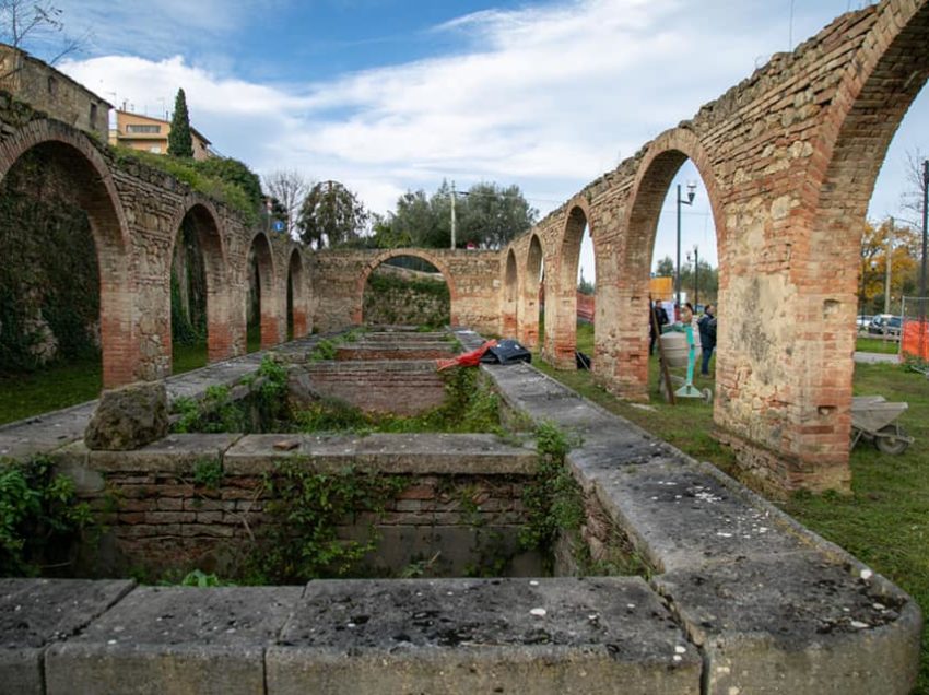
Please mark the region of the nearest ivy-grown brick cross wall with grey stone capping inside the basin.
POLYGON ((200 568, 235 576, 256 540, 281 522, 266 509, 264 483, 294 457, 308 471, 339 474, 351 467, 398 483, 383 511, 358 508, 337 525, 346 540, 379 537, 363 562, 368 570, 399 575, 422 561, 427 575, 494 564, 495 573, 541 572, 539 557, 525 554, 517 538, 534 456, 492 435, 199 434, 170 435, 137 451, 77 445, 57 456, 82 481, 82 496, 106 529, 99 550, 85 550, 83 574, 157 577, 200 568), (301 449, 282 452, 274 448, 280 441, 301 449))

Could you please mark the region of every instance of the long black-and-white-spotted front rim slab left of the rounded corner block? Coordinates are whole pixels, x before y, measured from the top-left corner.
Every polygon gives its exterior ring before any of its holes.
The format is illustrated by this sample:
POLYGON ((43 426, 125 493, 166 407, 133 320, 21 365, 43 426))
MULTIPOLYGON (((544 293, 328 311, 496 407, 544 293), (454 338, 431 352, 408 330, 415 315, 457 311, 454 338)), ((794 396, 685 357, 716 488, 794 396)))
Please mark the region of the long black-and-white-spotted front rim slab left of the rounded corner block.
POLYGON ((698 693, 697 650, 638 578, 315 581, 268 692, 698 693))

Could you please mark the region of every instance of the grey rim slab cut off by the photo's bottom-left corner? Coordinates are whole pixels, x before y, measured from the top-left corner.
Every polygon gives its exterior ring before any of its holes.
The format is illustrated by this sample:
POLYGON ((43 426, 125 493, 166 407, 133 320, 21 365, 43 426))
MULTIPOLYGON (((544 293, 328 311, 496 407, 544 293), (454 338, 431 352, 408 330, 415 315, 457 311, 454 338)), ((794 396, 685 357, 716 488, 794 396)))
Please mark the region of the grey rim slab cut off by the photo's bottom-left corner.
POLYGON ((43 655, 126 596, 133 581, 0 579, 0 692, 45 692, 43 655))

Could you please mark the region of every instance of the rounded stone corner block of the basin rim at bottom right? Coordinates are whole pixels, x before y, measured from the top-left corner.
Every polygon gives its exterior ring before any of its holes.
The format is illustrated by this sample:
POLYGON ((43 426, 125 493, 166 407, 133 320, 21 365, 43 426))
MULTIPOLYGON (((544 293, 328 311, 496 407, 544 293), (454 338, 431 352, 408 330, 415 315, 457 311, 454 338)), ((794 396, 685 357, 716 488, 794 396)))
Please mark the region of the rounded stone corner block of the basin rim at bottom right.
POLYGON ((814 553, 681 569, 654 580, 706 659, 707 695, 908 693, 913 600, 814 553))

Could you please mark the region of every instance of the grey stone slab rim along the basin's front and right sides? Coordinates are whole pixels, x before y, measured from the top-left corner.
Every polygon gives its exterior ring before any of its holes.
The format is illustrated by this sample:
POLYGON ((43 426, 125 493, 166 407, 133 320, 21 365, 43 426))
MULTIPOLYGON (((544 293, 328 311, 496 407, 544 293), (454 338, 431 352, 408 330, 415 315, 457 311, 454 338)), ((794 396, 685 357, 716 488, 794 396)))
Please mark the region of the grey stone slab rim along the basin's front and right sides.
MULTIPOLYGON (((481 339, 458 332, 466 350, 481 339)), ((915 601, 713 467, 529 365, 506 408, 583 443, 568 464, 655 572, 186 589, 0 582, 16 693, 904 694, 915 601)))

